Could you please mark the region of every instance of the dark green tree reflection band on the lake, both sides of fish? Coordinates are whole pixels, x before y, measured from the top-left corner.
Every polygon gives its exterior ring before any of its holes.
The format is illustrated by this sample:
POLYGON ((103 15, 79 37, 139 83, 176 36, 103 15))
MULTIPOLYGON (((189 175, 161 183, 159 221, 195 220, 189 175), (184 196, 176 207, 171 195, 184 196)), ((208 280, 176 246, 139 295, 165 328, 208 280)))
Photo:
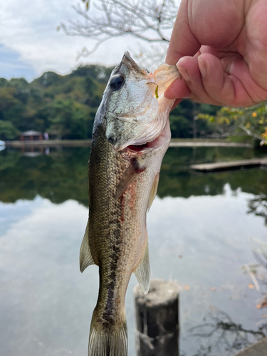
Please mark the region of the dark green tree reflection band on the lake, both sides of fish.
MULTIPOLYGON (((4 150, 0 155, 0 201, 34 199, 40 195, 54 203, 75 199, 88 206, 87 162, 89 148, 63 148, 53 155, 23 157, 20 152, 4 150)), ((158 196, 190 197, 224 194, 229 183, 232 191, 267 195, 267 172, 246 171, 195 174, 189 164, 253 157, 253 150, 224 147, 171 148, 160 172, 158 196)))

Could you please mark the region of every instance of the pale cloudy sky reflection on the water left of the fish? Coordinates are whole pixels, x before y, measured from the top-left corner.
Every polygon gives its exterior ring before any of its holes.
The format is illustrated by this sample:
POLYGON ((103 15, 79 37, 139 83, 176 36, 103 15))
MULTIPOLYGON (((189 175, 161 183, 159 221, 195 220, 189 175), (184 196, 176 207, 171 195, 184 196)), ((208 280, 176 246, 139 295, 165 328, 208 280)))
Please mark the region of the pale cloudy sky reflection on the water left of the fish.
POLYGON ((5 215, 0 355, 85 355, 98 286, 97 268, 85 276, 78 268, 88 210, 72 200, 56 205, 37 198, 0 204, 5 215))

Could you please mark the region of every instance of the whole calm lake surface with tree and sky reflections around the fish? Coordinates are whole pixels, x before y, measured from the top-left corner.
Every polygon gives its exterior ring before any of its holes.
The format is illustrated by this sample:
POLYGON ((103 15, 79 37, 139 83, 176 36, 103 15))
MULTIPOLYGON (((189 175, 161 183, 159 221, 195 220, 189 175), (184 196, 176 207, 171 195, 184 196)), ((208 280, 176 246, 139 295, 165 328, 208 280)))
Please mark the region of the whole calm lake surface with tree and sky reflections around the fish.
MULTIPOLYGON (((81 274, 78 262, 89 150, 0 152, 0 355, 87 355, 98 295, 98 268, 81 274)), ((251 239, 267 243, 267 170, 189 171, 193 163, 258 155, 172 148, 164 157, 147 230, 152 278, 179 285, 181 356, 234 355, 266 334, 260 280, 267 271, 257 266, 251 239)), ((136 283, 132 276, 126 295, 129 356, 136 283)))

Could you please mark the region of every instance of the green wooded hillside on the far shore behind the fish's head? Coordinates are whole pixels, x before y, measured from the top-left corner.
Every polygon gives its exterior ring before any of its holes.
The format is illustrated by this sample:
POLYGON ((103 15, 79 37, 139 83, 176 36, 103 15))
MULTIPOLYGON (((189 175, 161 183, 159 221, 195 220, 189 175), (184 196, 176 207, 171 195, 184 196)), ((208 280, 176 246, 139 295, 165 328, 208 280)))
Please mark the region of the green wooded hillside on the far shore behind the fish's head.
MULTIPOLYGON (((0 140, 16 140, 19 133, 37 130, 61 139, 91 137, 93 120, 112 68, 80 66, 68 75, 46 72, 28 83, 24 78, 0 78, 0 140)), ((194 120, 199 112, 213 115, 213 105, 183 100, 169 120, 172 137, 206 137, 214 128, 194 120)))

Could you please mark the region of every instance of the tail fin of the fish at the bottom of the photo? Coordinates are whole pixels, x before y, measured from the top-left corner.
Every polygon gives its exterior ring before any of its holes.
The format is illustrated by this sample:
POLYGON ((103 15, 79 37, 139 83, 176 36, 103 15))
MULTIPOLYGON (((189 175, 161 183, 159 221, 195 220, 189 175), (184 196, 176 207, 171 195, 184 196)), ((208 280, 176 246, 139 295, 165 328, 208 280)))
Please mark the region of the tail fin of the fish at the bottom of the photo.
POLYGON ((127 356, 127 324, 120 330, 98 331, 93 325, 90 328, 88 356, 127 356))

